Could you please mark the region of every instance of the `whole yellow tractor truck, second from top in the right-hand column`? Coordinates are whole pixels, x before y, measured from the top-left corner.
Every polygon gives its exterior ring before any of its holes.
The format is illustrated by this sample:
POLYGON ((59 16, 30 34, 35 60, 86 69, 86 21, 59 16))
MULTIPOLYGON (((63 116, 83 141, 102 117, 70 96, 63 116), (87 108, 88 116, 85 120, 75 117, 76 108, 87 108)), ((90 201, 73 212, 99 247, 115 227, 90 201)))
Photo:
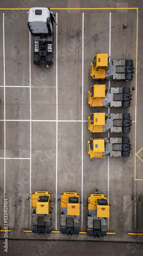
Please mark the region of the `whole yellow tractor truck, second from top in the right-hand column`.
POLYGON ((106 84, 94 84, 88 91, 89 106, 114 106, 128 108, 132 99, 129 87, 106 88, 106 84))

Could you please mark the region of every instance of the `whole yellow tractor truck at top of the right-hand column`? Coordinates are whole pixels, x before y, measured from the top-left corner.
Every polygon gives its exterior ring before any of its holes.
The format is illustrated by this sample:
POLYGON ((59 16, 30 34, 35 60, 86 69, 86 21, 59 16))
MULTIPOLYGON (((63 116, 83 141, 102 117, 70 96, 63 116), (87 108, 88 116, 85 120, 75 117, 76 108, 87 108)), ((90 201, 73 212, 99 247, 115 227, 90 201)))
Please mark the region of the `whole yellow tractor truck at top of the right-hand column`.
POLYGON ((125 80, 131 81, 134 77, 133 60, 109 61, 108 54, 96 54, 90 65, 90 76, 92 79, 125 80))

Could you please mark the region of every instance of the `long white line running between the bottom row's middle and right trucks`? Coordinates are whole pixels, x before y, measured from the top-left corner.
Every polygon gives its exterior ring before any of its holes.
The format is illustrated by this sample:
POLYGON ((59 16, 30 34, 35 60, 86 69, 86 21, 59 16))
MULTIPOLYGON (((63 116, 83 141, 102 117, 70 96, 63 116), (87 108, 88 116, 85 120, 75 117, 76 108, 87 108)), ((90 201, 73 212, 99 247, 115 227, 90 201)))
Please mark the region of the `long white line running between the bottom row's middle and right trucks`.
POLYGON ((81 229, 83 228, 83 82, 84 82, 84 13, 82 13, 82 164, 81 164, 81 229))

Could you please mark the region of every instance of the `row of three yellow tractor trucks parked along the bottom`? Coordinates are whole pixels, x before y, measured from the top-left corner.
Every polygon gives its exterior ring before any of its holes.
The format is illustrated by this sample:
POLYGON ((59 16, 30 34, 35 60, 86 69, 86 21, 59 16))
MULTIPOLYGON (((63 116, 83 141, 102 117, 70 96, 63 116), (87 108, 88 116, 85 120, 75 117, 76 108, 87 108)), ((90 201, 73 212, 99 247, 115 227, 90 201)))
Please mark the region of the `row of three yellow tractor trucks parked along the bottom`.
MULTIPOLYGON (((31 198, 32 232, 45 234, 52 231, 52 198, 47 191, 37 191, 31 198)), ((80 195, 78 193, 62 193, 60 201, 60 233, 80 233, 80 195)), ((100 238, 107 235, 106 223, 109 218, 109 203, 100 191, 88 195, 87 236, 100 238)))

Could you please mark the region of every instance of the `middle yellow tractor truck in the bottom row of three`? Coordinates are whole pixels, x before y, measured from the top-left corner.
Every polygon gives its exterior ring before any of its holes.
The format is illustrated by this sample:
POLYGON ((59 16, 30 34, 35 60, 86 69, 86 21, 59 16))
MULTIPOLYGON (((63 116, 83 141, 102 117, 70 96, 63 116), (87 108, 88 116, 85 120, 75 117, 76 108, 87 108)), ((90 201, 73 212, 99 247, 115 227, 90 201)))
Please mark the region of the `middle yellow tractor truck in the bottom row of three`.
POLYGON ((78 193, 62 193, 60 232, 63 234, 78 234, 80 231, 80 195, 78 193))

